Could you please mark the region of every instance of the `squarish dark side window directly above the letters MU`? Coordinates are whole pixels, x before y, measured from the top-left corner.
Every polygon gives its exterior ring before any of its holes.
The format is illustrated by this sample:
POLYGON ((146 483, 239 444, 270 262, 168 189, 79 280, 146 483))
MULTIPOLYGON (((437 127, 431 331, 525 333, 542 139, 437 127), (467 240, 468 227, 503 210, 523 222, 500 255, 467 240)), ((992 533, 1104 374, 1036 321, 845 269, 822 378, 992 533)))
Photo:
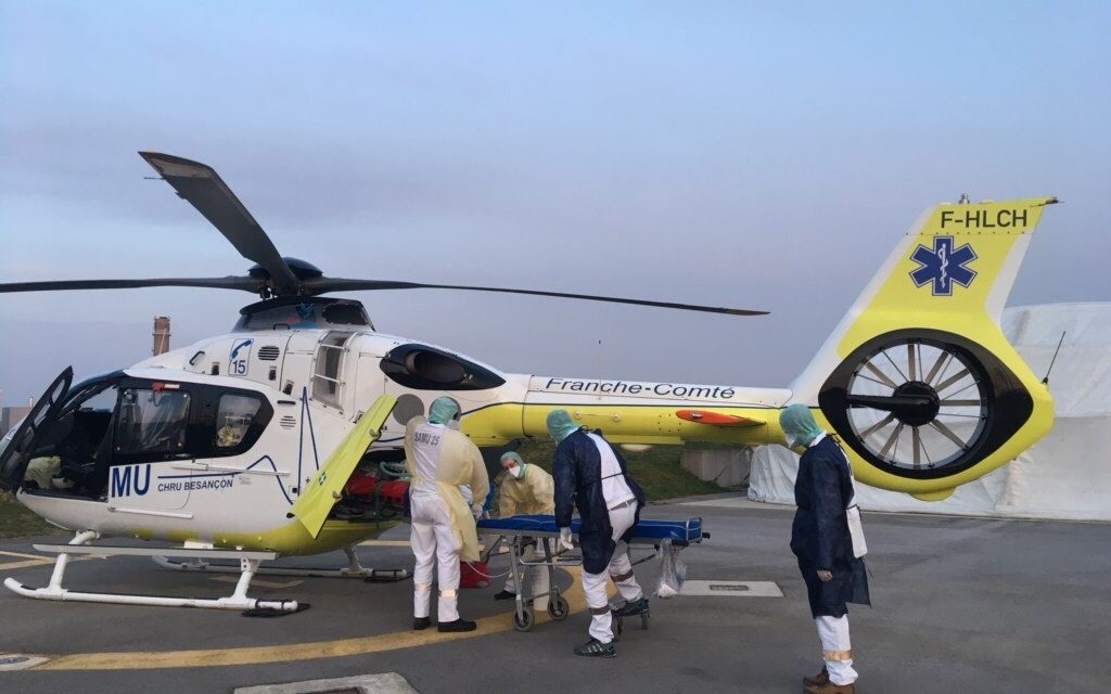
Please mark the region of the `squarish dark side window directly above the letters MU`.
POLYGON ((120 395, 114 451, 120 455, 186 452, 189 393, 129 388, 120 395))

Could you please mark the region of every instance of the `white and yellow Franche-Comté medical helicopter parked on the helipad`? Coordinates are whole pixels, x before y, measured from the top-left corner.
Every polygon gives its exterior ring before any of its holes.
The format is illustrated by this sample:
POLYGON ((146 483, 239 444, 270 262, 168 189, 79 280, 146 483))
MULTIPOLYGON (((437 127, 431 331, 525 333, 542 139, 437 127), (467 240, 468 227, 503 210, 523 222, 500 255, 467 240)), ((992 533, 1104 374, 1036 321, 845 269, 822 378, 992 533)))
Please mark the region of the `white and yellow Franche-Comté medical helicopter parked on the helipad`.
MULTIPOLYGON (((259 301, 241 309, 228 334, 76 384, 67 369, 0 442, 0 486, 76 533, 68 545, 39 546, 58 554, 48 586, 6 580, 28 597, 292 612, 296 601, 247 596, 252 577, 267 569, 261 563, 338 549, 347 552, 346 569, 303 575, 404 577, 364 569, 353 551, 383 517, 388 480, 369 475, 372 511, 367 494, 357 499, 352 487, 368 464, 389 470, 403 457, 406 424, 440 396, 456 400, 460 430, 494 455, 547 436, 546 418, 556 409, 603 429, 617 444, 782 443, 779 412, 803 403, 844 444, 858 480, 922 500, 944 499, 1013 460, 1053 424, 1048 385, 1007 341, 999 315, 1055 198, 962 199, 925 210, 803 373, 789 388, 765 389, 512 374, 380 333, 360 302, 322 294, 434 289, 764 312, 329 278, 280 255, 211 167, 140 155, 256 263, 246 275, 19 282, 0 284, 0 292, 198 286, 246 291, 259 301), (28 481, 36 465, 49 467, 51 484, 28 481), (92 544, 112 536, 181 547, 92 544), (68 557, 81 553, 146 554, 182 570, 218 570, 204 560, 233 559, 240 580, 230 597, 218 600, 74 593, 62 581, 68 557), (172 561, 179 556, 194 561, 172 561)), ((400 501, 393 489, 387 502, 400 501)))

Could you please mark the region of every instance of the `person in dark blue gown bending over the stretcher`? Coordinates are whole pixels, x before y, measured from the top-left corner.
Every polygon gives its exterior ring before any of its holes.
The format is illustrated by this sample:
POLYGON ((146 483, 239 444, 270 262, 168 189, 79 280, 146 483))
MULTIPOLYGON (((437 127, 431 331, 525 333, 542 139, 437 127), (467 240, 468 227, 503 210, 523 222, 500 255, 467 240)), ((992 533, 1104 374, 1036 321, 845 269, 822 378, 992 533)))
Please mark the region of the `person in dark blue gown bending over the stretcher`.
POLYGON ((582 525, 582 589, 590 610, 590 640, 574 647, 575 655, 614 657, 613 615, 648 612, 648 599, 637 583, 629 561, 629 540, 644 505, 644 493, 625 473, 625 463, 601 436, 571 421, 565 410, 548 415, 548 433, 558 444, 552 463, 556 481, 556 525, 560 545, 573 546, 571 514, 579 510, 582 525), (613 579, 624 605, 610 612, 607 579, 613 579))

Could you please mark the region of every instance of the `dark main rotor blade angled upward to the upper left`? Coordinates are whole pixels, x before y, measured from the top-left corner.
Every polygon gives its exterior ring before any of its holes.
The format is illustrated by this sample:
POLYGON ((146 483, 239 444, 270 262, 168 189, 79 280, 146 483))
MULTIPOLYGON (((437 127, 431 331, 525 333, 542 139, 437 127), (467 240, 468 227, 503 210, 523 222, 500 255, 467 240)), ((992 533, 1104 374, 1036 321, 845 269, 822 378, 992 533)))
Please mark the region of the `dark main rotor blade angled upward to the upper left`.
POLYGON ((270 237, 211 167, 158 152, 139 152, 139 155, 231 241, 240 255, 270 273, 276 293, 298 293, 298 279, 270 237))

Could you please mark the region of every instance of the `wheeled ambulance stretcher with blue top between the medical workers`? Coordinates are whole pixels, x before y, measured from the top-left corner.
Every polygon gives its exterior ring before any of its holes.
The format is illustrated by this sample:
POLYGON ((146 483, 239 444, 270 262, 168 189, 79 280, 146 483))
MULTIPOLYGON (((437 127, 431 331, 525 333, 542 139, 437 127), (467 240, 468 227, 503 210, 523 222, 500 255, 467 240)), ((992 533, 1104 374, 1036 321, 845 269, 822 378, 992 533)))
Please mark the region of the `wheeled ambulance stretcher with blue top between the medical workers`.
MULTIPOLYGON (((571 534, 578 542, 579 519, 571 521, 571 534)), ((565 620, 570 613, 567 599, 563 597, 559 585, 556 583, 556 570, 560 566, 581 566, 582 554, 578 551, 553 551, 559 539, 559 527, 556 526, 556 517, 551 515, 513 515, 504 519, 483 519, 478 522, 478 532, 484 539, 486 550, 482 561, 489 560, 490 555, 504 540, 509 546, 510 563, 509 571, 518 586, 516 612, 513 613, 513 627, 519 632, 532 630, 536 623, 536 615, 532 611, 531 602, 538 595, 526 595, 524 572, 530 566, 538 571, 548 572, 548 616, 560 622, 565 620), (537 543, 536 559, 527 559, 526 547, 531 543, 537 543)), ((700 543, 703 539, 709 539, 710 533, 702 532, 702 519, 688 519, 687 521, 649 521, 641 519, 633 530, 632 540, 629 542, 630 552, 633 549, 648 550, 639 559, 633 559, 633 564, 640 564, 655 556, 661 546, 672 545, 684 547, 690 544, 700 543)), ((632 557, 630 557, 632 559, 632 557)), ((641 617, 642 626, 648 628, 648 615, 641 617)), ((618 624, 620 630, 620 621, 618 624)))

